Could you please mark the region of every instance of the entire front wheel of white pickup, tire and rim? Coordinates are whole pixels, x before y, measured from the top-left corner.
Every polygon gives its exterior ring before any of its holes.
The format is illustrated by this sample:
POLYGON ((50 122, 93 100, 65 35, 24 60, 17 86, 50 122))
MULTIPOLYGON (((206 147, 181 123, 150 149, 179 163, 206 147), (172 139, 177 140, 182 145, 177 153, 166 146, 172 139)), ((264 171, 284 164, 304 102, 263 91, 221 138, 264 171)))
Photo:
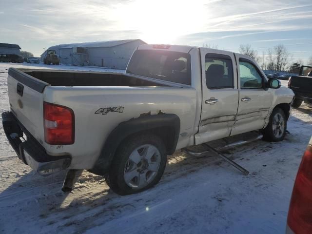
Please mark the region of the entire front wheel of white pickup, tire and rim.
POLYGON ((275 108, 270 116, 268 126, 263 129, 263 139, 267 141, 281 141, 287 129, 287 120, 282 109, 275 108))

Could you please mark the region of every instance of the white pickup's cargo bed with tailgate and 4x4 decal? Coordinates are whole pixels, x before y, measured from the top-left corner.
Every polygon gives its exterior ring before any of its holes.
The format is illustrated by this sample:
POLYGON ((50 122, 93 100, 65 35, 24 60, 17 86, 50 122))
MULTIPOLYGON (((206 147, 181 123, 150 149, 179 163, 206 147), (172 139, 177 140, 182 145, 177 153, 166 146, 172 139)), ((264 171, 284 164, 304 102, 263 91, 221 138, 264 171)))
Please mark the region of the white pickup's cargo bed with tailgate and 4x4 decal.
MULTIPOLYGON (((195 88, 164 80, 123 73, 10 68, 8 95, 14 117, 46 154, 70 153, 74 156, 70 167, 73 169, 92 168, 108 134, 119 123, 141 115, 176 114, 185 132, 194 131, 195 88), (45 142, 45 102, 73 111, 74 144, 45 142)), ((190 134, 183 137, 179 144, 187 144, 190 138, 190 134)))

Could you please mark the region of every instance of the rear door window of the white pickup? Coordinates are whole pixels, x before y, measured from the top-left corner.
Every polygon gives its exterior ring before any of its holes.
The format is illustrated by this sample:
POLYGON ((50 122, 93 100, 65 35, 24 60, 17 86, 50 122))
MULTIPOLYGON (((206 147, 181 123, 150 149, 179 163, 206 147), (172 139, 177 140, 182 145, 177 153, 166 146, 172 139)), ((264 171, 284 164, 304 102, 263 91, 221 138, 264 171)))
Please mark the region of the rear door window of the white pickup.
POLYGON ((233 64, 230 56, 207 54, 205 70, 208 89, 234 88, 233 64))

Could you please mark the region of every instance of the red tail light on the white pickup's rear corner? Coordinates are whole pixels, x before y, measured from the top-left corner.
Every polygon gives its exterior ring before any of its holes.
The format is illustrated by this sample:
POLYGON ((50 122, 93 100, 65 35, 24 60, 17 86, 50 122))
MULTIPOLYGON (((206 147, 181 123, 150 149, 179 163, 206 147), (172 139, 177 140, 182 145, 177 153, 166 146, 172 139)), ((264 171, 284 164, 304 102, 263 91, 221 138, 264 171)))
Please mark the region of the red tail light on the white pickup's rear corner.
POLYGON ((50 145, 70 145, 75 141, 75 115, 72 109, 43 103, 44 140, 50 145))

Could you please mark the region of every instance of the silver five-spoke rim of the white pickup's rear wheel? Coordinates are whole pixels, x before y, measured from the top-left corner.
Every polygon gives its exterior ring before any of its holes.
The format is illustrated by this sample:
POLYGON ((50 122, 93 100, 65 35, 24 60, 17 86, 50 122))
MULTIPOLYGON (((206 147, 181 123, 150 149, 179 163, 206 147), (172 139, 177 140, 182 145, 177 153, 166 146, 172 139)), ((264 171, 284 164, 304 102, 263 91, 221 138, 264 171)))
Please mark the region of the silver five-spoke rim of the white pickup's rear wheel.
POLYGON ((129 156, 123 178, 128 186, 141 189, 149 185, 158 173, 160 152, 154 145, 141 145, 129 156))

